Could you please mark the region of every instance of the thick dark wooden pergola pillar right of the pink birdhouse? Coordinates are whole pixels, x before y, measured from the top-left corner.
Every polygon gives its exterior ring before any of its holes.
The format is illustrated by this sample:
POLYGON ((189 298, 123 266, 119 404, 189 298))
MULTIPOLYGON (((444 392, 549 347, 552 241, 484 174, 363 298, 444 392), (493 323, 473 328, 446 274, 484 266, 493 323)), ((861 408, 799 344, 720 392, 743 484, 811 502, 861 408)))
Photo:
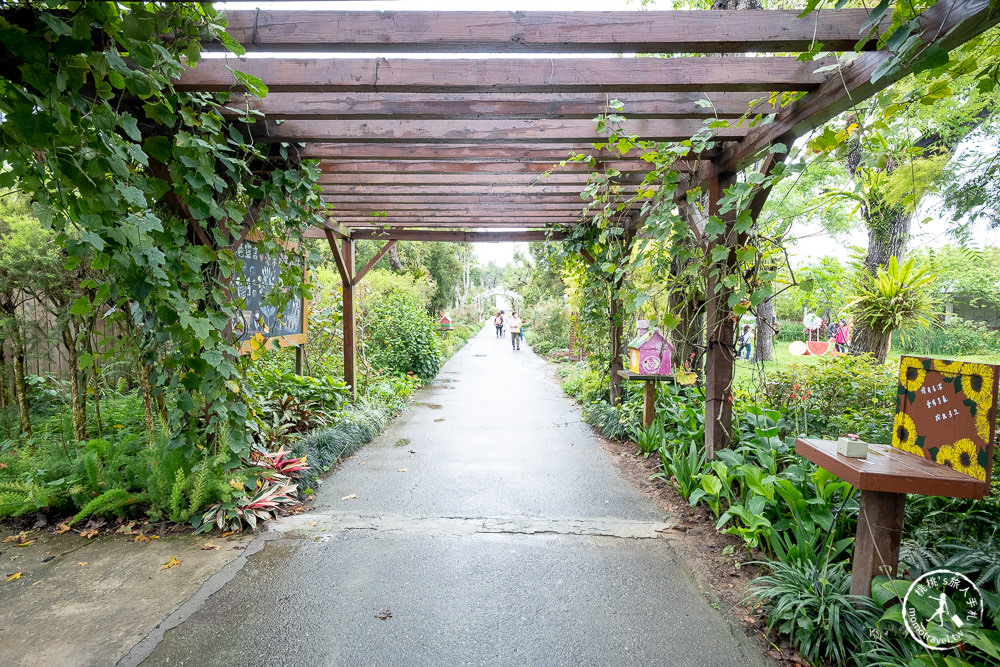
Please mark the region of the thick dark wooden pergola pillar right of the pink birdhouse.
POLYGON ((733 174, 712 177, 708 181, 709 215, 723 219, 726 230, 709 242, 706 252, 720 245, 729 246, 724 261, 710 262, 705 281, 705 326, 708 352, 705 355, 705 455, 712 459, 715 452, 733 444, 733 368, 736 360, 733 349, 735 323, 729 297, 733 289, 723 279, 736 266, 736 233, 732 215, 719 213, 719 200, 725 188, 736 180, 733 174), (717 273, 713 275, 713 271, 717 273))

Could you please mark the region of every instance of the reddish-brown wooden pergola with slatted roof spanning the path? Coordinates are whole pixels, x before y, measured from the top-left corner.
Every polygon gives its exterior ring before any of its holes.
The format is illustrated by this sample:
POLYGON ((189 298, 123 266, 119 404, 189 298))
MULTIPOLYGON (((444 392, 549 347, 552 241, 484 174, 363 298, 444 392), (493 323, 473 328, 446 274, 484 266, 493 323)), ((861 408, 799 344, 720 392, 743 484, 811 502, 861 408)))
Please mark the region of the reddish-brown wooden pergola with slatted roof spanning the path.
MULTIPOLYGON (((344 287, 344 374, 355 384, 354 286, 397 240, 558 240, 590 216, 580 192, 589 165, 553 165, 576 153, 620 172, 634 188, 649 169, 639 155, 596 150, 594 118, 624 104, 627 131, 682 140, 706 118, 774 114, 768 124, 726 127, 687 167, 691 186, 722 190, 762 149, 808 131, 904 76, 872 82, 893 57, 875 39, 836 62, 796 56, 816 43, 853 51, 869 13, 817 11, 376 12, 229 11, 229 34, 252 57, 201 60, 177 85, 234 93, 229 106, 264 114, 255 139, 303 144, 320 161, 333 215, 310 236, 327 238, 344 287), (272 55, 273 54, 273 55, 272 55), (279 55, 280 54, 280 55, 279 55), (365 55, 352 55, 365 54, 365 55), (395 56, 394 54, 400 54, 395 56), (663 57, 631 57, 663 54, 663 57), (781 54, 781 55, 773 55, 781 54), (243 94, 230 68, 259 78, 263 99, 243 94), (802 93, 780 107, 772 93, 802 93), (386 245, 360 271, 354 243, 386 245)), ((923 46, 958 46, 1000 21, 989 0, 941 0, 919 19, 923 46)), ((222 51, 221 45, 209 45, 222 51)), ((765 164, 763 169, 767 169, 765 164)), ((760 210, 766 192, 754 202, 760 210)), ((641 231, 626 212, 629 233, 641 231)), ((740 241, 732 221, 720 241, 740 241)), ((706 248, 710 250, 711 248, 706 248)), ((730 262, 735 256, 730 253, 730 262)), ((706 446, 731 442, 733 339, 728 292, 709 283, 706 446), (714 343, 714 344, 713 344, 714 343)), ((619 304, 612 349, 621 350, 619 304)), ((612 355, 613 392, 620 355, 612 355)), ((614 395, 614 394, 613 394, 614 395)))

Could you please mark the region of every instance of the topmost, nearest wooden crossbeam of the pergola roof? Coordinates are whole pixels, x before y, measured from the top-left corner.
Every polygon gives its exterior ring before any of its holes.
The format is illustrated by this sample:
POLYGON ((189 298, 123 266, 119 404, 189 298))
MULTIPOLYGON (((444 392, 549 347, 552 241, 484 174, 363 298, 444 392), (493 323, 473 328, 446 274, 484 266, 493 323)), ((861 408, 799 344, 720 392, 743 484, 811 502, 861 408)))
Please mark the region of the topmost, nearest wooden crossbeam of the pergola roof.
MULTIPOLYGON (((854 48, 862 9, 820 11, 226 12, 247 49, 330 52, 744 53, 854 48)), ((212 48, 212 45, 206 45, 212 48)), ((870 48, 866 45, 865 48, 870 48)), ((221 45, 216 44, 219 49, 221 45)))

